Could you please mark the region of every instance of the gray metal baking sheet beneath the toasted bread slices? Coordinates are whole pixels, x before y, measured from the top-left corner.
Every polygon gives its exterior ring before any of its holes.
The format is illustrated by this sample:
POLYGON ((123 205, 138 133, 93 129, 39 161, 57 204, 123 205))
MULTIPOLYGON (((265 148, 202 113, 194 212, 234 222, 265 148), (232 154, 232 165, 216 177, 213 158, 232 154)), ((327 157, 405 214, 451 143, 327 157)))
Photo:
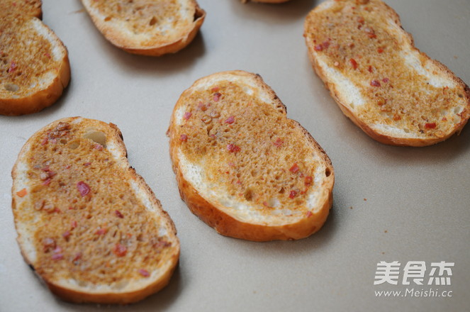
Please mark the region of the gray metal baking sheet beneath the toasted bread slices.
MULTIPOLYGON (((113 47, 80 1, 43 0, 43 21, 69 50, 72 80, 54 106, 29 116, 0 116, 0 311, 469 311, 470 126, 431 147, 377 143, 343 116, 310 66, 303 20, 320 1, 198 2, 207 18, 194 42, 175 55, 152 58, 113 47), (310 238, 225 238, 179 199, 165 136, 172 108, 194 80, 229 69, 261 74, 289 118, 310 131, 332 160, 334 204, 323 229, 310 238), (19 252, 11 168, 30 135, 68 116, 121 128, 130 165, 177 226, 179 268, 167 288, 140 303, 65 303, 19 252), (381 261, 400 262, 397 285, 374 285, 381 261), (405 265, 413 261, 427 265, 423 286, 412 279, 403 284, 405 265), (454 263, 451 284, 428 286, 432 262, 442 261, 454 263), (376 295, 407 289, 452 296, 376 295)), ((387 3, 420 50, 470 83, 469 0, 387 3)))

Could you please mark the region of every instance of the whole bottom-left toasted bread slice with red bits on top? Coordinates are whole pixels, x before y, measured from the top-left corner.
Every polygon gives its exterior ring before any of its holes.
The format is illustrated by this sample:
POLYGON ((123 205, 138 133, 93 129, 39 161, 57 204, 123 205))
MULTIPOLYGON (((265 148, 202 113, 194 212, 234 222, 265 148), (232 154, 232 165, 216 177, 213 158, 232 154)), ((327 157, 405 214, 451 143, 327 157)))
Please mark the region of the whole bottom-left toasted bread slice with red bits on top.
POLYGON ((112 123, 63 118, 35 133, 13 167, 21 253, 66 301, 132 303, 168 284, 179 240, 130 167, 112 123))

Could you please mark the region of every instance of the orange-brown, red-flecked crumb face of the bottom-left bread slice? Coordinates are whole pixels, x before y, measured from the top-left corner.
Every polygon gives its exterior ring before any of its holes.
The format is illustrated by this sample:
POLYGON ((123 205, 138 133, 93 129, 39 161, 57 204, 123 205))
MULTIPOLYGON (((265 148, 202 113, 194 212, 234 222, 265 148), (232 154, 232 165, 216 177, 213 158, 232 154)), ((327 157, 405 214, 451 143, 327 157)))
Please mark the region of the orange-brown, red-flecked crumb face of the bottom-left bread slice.
POLYGON ((105 132, 61 122, 30 145, 26 174, 36 213, 16 213, 16 223, 35 228, 33 265, 45 280, 120 289, 171 256, 172 238, 159 228, 165 221, 150 218, 105 132))

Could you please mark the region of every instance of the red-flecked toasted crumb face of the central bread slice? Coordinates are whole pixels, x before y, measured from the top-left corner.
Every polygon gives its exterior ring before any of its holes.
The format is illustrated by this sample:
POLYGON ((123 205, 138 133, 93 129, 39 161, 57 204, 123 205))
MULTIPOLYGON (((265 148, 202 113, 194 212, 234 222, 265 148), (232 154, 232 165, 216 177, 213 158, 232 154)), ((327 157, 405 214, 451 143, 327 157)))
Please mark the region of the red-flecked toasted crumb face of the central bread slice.
POLYGON ((203 171, 209 194, 219 199, 226 194, 220 204, 227 209, 241 213, 244 206, 254 206, 259 216, 304 216, 314 206, 307 204, 309 192, 320 187, 316 184, 330 168, 318 174, 319 153, 306 144, 306 132, 286 118, 277 97, 277 104, 264 102, 265 92, 220 80, 183 94, 172 138, 184 163, 203 171))

